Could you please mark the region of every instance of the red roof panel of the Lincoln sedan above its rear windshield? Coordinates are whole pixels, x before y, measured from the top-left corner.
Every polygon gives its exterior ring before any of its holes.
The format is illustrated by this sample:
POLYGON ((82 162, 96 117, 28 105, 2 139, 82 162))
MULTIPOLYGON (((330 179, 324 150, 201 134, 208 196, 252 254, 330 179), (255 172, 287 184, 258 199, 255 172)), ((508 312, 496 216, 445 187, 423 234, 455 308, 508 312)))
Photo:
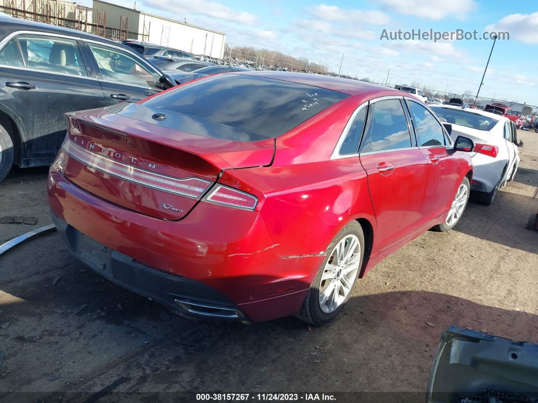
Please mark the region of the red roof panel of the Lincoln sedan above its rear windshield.
MULTIPOLYGON (((321 74, 307 74, 307 73, 294 73, 294 72, 273 72, 268 70, 262 70, 259 72, 233 72, 228 74, 247 74, 259 77, 265 77, 266 79, 291 81, 299 84, 305 84, 308 86, 320 87, 339 91, 341 93, 357 95, 368 93, 371 91, 387 91, 392 92, 395 95, 403 95, 402 91, 391 89, 378 84, 372 84, 365 81, 344 79, 342 77, 332 77, 321 74)), ((408 94, 405 94, 408 95, 408 94)))

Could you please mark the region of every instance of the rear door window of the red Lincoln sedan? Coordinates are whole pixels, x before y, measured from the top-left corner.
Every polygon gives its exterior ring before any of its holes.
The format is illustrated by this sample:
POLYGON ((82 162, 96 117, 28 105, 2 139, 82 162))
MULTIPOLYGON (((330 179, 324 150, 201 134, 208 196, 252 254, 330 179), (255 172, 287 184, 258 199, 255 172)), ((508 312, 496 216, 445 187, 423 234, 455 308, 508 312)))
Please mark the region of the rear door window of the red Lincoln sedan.
POLYGON ((370 105, 369 128, 360 152, 406 149, 411 146, 407 119, 400 100, 378 101, 370 105))

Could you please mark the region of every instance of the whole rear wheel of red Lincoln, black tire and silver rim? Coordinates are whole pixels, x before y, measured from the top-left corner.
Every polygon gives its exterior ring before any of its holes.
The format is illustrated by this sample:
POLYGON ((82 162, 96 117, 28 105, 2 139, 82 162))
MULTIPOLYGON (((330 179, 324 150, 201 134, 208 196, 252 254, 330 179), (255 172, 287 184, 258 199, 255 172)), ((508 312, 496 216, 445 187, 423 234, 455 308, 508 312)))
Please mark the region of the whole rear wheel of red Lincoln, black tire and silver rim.
POLYGON ((348 301, 364 258, 364 234, 357 221, 346 225, 325 251, 299 319, 320 326, 334 318, 348 301))

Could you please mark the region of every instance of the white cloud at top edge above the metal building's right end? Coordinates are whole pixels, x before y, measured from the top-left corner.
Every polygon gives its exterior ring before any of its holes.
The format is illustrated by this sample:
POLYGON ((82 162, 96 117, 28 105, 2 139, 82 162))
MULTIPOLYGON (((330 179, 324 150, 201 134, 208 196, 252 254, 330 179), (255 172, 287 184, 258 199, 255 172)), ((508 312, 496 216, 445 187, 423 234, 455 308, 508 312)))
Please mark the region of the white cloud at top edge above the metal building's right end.
MULTIPOLYGON (((151 6, 155 10, 172 12, 173 18, 177 18, 179 12, 183 16, 201 15, 212 18, 223 19, 228 22, 237 24, 253 25, 257 22, 257 17, 245 11, 236 11, 230 9, 224 4, 211 0, 143 0, 144 5, 151 6)), ((181 18, 179 18, 181 19, 181 18)))

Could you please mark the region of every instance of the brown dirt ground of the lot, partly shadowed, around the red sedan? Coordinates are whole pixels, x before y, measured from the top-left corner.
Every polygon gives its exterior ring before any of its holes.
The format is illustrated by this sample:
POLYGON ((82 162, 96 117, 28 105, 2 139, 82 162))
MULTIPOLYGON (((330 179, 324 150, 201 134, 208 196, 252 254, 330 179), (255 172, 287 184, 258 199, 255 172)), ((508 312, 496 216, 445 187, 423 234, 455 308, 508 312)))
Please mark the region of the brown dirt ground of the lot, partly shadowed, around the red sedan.
MULTIPOLYGON (((294 317, 182 319, 86 270, 54 233, 19 245, 0 257, 0 400, 423 392, 451 324, 538 342, 538 231, 525 229, 538 210, 538 134, 519 137, 519 171, 492 206, 471 201, 454 230, 429 231, 378 264, 320 328, 294 317)), ((0 185, 0 216, 50 223, 46 173, 13 171, 0 185)), ((0 243, 27 231, 0 224, 0 243)))

